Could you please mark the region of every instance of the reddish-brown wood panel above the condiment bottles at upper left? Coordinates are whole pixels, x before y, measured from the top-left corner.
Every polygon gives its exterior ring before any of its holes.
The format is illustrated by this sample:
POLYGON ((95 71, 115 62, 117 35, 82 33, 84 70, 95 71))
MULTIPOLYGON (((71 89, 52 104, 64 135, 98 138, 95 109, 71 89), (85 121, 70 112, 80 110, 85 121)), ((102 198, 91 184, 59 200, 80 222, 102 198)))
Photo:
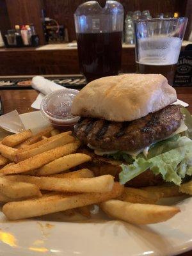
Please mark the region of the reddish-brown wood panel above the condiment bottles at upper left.
POLYGON ((44 31, 42 26, 42 0, 6 0, 8 15, 12 28, 15 24, 26 25, 33 23, 36 33, 40 37, 40 44, 44 44, 44 31))

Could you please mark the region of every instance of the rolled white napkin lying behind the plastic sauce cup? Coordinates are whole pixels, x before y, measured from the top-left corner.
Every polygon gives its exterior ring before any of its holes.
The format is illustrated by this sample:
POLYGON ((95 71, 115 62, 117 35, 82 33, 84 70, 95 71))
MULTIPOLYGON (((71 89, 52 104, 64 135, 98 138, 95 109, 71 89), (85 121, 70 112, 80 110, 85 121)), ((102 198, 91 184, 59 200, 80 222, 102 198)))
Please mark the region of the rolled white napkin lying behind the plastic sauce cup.
POLYGON ((56 84, 48 79, 45 79, 42 76, 35 76, 32 79, 33 89, 39 91, 39 95, 36 97, 36 100, 31 104, 32 108, 40 109, 42 99, 45 95, 52 93, 56 90, 66 89, 66 87, 56 84))

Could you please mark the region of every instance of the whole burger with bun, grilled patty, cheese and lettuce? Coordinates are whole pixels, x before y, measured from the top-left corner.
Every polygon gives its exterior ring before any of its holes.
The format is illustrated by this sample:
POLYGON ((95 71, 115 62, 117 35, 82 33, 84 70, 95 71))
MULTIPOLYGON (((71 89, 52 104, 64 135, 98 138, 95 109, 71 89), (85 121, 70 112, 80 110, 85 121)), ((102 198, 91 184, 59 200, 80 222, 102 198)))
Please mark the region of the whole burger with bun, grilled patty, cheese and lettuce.
POLYGON ((189 179, 191 115, 176 101, 175 89, 161 74, 125 74, 88 83, 74 99, 72 115, 81 116, 74 131, 93 157, 89 168, 134 187, 180 185, 189 179))

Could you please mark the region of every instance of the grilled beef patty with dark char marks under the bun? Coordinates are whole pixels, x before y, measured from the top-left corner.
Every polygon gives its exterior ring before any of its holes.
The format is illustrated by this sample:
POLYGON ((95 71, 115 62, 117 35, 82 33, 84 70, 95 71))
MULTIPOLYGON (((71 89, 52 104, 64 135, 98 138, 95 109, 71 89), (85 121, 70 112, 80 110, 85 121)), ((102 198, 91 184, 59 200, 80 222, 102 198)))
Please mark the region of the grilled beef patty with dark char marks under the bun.
POLYGON ((180 107, 169 105, 131 122, 81 118, 75 125, 77 138, 102 150, 137 150, 170 136, 180 126, 180 107))

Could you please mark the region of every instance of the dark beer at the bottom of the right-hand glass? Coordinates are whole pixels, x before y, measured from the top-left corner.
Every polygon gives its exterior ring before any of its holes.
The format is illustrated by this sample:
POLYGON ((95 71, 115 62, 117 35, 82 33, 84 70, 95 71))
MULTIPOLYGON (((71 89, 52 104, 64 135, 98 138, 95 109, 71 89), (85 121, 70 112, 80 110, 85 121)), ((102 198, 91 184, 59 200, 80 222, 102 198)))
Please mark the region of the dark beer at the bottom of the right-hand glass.
POLYGON ((136 62, 136 73, 140 74, 162 74, 168 79, 168 84, 173 85, 177 64, 173 65, 145 65, 136 62))

